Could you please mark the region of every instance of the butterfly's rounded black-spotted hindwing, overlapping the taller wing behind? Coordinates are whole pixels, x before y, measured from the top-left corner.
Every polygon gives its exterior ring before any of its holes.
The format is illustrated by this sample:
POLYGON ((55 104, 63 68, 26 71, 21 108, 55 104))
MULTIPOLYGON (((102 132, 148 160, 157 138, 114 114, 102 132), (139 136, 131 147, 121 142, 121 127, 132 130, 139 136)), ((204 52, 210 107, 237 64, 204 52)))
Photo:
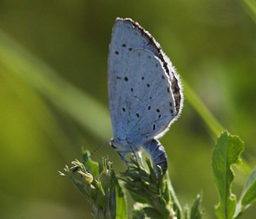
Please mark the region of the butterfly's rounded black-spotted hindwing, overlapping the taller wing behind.
POLYGON ((161 61, 152 52, 135 49, 124 72, 132 74, 127 76, 128 81, 122 81, 122 85, 128 82, 123 89, 130 93, 121 98, 121 107, 129 104, 122 113, 123 126, 128 142, 141 144, 167 129, 175 117, 174 97, 161 61))

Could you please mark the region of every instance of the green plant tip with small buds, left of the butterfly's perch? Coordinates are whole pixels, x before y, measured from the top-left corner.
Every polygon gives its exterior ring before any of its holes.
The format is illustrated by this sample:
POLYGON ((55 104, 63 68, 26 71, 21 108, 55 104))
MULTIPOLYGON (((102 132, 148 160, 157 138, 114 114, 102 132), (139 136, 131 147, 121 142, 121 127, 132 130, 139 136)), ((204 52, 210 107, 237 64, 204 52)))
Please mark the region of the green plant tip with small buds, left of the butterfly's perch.
POLYGON ((83 153, 83 158, 83 163, 75 160, 71 168, 65 166, 66 174, 60 174, 72 179, 76 189, 91 204, 92 215, 95 218, 126 216, 124 195, 111 162, 107 158, 102 158, 102 163, 98 164, 89 158, 88 151, 83 153))

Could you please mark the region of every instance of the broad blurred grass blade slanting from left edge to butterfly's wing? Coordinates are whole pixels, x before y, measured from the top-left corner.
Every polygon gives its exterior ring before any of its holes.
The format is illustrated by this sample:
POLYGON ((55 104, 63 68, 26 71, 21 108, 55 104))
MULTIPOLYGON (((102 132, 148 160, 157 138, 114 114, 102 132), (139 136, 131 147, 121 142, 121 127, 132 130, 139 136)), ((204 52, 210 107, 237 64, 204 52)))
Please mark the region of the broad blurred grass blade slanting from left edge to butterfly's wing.
POLYGON ((56 74, 35 55, 0 31, 0 61, 10 74, 16 74, 42 93, 53 105, 68 113, 102 141, 111 137, 108 109, 56 74))

